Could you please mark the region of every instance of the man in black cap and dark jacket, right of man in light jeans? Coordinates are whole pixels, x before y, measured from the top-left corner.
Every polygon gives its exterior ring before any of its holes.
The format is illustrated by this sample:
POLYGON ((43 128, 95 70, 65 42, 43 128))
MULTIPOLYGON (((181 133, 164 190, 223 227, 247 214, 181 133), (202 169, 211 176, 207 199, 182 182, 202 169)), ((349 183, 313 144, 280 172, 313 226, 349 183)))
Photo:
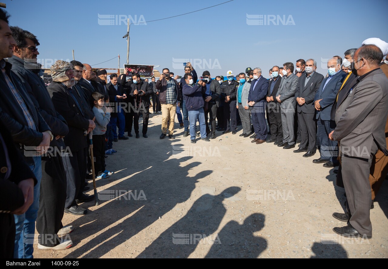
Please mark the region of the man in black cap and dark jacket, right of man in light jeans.
MULTIPOLYGON (((211 136, 210 139, 216 138, 216 116, 217 116, 217 109, 220 107, 220 96, 221 96, 221 85, 220 83, 215 80, 211 79, 210 72, 204 71, 202 73, 203 76, 203 82, 206 86, 206 91, 204 92, 204 99, 205 102, 208 103, 207 110, 205 111, 205 122, 206 122, 206 135, 210 133, 208 122, 208 113, 210 117, 211 122, 211 136), (207 77, 207 78, 206 78, 207 77)), ((194 79, 193 79, 194 80, 194 79)), ((205 105, 206 107, 206 105, 205 105)))

